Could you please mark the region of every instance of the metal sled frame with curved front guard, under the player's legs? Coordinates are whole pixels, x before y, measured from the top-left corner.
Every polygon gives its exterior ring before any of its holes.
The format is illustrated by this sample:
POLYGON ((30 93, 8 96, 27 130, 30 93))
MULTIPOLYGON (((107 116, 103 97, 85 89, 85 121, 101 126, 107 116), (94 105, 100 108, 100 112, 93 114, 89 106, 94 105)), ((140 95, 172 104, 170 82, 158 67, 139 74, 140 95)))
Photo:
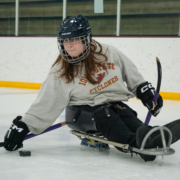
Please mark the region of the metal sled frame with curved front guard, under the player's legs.
MULTIPOLYGON (((99 134, 97 134, 97 133, 90 134, 90 133, 83 133, 83 132, 79 132, 79 131, 75 131, 75 130, 70 130, 70 132, 72 134, 76 135, 77 137, 79 137, 81 140, 88 139, 96 144, 99 143, 100 145, 101 144, 113 145, 113 146, 123 149, 124 152, 136 152, 136 153, 141 153, 141 154, 145 154, 145 155, 155 155, 155 156, 171 155, 171 154, 175 153, 175 150, 170 148, 170 145, 172 142, 172 133, 168 128, 166 128, 164 126, 155 127, 152 130, 150 130, 147 133, 147 135, 144 137, 140 149, 131 147, 128 144, 121 144, 121 143, 109 141, 106 138, 104 138, 103 136, 99 136, 99 134), (155 131, 160 131, 163 147, 162 148, 157 147, 157 148, 152 148, 152 149, 144 149, 148 137, 150 135, 152 135, 155 131), (167 131, 168 135, 169 135, 167 143, 165 140, 164 131, 167 131)), ((90 146, 90 145, 88 145, 88 146, 90 146)), ((99 149, 100 148, 101 147, 99 146, 99 149)))

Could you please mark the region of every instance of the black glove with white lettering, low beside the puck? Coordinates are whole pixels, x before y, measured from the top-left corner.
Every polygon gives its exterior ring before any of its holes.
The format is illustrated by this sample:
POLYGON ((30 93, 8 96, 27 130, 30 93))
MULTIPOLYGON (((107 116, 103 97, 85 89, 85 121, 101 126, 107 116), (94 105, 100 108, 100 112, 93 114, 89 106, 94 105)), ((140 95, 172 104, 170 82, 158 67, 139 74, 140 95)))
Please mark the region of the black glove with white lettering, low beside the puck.
POLYGON ((23 147, 23 140, 29 133, 27 125, 19 121, 22 117, 17 116, 4 137, 4 148, 8 151, 15 151, 23 147))

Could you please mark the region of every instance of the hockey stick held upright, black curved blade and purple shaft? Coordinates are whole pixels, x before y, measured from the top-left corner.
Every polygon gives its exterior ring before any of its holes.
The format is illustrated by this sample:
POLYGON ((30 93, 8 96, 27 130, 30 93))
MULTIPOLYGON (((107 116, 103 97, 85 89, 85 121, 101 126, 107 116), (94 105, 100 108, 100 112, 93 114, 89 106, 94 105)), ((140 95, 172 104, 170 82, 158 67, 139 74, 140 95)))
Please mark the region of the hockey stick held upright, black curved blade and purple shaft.
MULTIPOLYGON (((159 96, 159 91, 160 91, 160 87, 161 87, 161 79, 162 79, 161 63, 160 63, 158 57, 156 57, 156 62, 157 62, 157 70, 158 70, 158 81, 157 81, 157 87, 156 87, 155 95, 153 98, 154 104, 156 104, 158 96, 159 96)), ((147 125, 149 124, 151 116, 152 116, 151 111, 149 111, 147 116, 146 116, 145 124, 147 124, 147 125)))

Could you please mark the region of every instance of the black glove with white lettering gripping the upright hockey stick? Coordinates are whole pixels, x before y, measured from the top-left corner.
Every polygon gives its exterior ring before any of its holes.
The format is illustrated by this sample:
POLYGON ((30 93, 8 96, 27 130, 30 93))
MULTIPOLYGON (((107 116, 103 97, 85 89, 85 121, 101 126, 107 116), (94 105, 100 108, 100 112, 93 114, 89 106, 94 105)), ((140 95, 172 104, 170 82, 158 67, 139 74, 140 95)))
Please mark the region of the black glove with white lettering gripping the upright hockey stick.
POLYGON ((137 97, 151 111, 153 116, 157 116, 163 106, 163 99, 159 95, 156 104, 154 104, 154 95, 155 89, 151 83, 145 82, 137 87, 137 97))

